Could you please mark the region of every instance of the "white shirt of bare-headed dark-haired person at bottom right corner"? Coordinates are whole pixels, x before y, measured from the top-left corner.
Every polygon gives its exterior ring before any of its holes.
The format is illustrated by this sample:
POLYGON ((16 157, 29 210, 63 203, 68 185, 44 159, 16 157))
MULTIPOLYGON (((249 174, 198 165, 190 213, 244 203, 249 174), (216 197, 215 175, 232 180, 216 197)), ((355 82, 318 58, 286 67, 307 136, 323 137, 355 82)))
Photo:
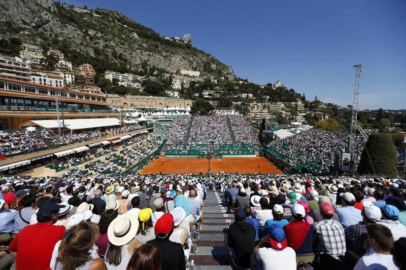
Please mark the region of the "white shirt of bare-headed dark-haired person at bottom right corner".
POLYGON ((354 267, 355 270, 396 270, 399 269, 393 263, 392 255, 385 255, 375 252, 370 248, 364 256, 362 256, 354 267))

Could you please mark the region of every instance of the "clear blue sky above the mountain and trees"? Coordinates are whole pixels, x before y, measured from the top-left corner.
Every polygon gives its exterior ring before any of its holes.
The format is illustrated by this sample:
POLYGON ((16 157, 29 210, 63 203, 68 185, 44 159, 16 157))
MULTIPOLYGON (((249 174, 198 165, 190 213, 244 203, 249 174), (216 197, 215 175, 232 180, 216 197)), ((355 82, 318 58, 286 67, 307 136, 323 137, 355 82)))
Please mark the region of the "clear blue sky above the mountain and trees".
POLYGON ((236 75, 352 104, 362 64, 361 109, 406 109, 406 1, 109 1, 67 4, 112 9, 165 36, 192 42, 236 75))

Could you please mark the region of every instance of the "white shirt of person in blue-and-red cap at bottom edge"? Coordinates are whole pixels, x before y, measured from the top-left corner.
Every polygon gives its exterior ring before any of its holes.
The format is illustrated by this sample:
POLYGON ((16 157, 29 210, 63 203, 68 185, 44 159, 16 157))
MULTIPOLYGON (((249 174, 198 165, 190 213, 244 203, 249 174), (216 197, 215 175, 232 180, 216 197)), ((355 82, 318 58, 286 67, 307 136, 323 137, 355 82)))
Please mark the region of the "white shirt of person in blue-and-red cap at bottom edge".
POLYGON ((296 253, 287 247, 284 250, 260 248, 256 254, 264 270, 296 270, 296 253))

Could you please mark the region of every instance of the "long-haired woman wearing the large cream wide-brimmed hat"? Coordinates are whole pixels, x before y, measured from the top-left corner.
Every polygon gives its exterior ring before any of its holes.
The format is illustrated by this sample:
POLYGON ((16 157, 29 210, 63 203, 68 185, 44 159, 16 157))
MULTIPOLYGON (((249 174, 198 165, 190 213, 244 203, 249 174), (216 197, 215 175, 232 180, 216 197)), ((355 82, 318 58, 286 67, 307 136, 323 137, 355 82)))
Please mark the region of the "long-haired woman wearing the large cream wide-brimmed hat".
POLYGON ((107 229, 109 245, 106 250, 105 263, 107 269, 125 269, 137 241, 133 241, 139 227, 138 218, 131 214, 122 214, 116 217, 107 229))

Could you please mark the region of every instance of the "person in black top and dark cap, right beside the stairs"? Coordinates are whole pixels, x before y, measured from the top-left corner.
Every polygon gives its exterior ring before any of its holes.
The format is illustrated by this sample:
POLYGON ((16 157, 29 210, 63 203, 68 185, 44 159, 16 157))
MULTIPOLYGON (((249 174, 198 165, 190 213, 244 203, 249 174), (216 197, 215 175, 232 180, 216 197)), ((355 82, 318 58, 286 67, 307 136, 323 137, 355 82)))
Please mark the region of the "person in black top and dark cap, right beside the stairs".
POLYGON ((255 246, 255 229, 246 222, 246 212, 243 208, 237 209, 234 216, 234 223, 228 228, 227 249, 233 263, 248 268, 255 246))

